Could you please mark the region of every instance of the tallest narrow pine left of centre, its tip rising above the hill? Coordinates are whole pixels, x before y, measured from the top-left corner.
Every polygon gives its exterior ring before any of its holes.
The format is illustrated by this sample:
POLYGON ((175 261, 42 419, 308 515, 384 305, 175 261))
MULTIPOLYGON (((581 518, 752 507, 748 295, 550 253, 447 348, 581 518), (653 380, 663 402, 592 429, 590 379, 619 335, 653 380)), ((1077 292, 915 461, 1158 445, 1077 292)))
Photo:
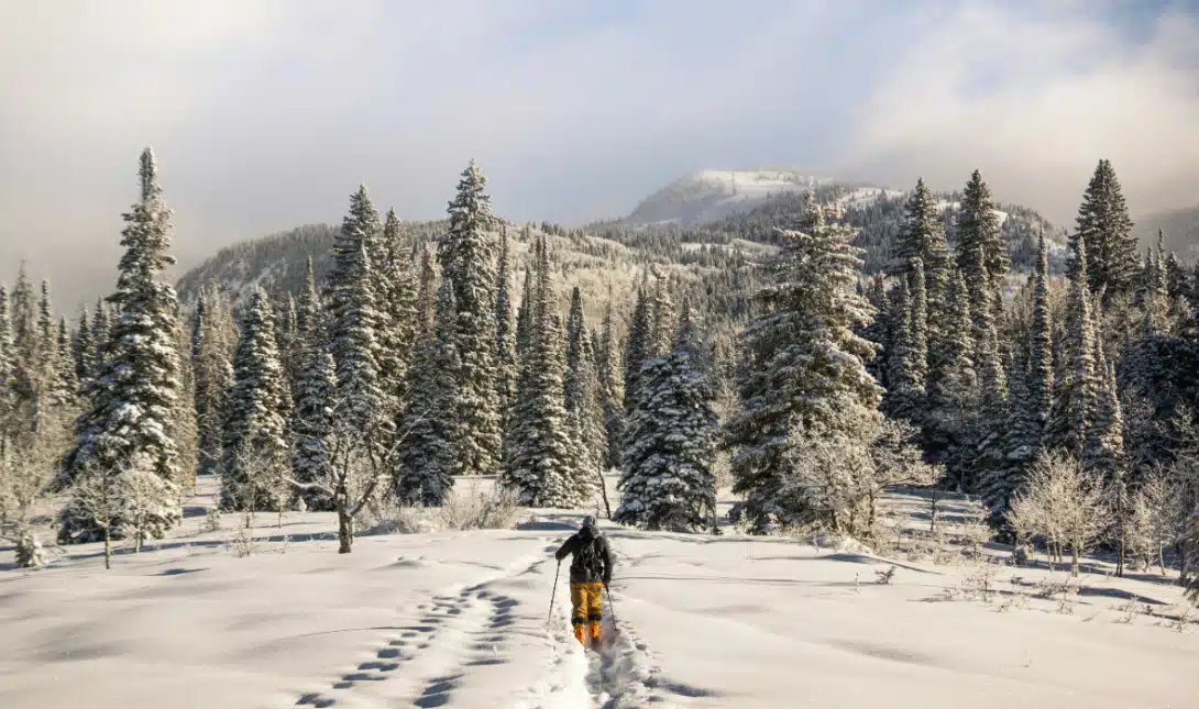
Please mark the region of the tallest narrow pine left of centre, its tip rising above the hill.
POLYGON ((438 244, 441 277, 453 286, 458 309, 456 349, 459 357, 458 394, 463 435, 457 442, 462 468, 472 474, 499 469, 502 416, 495 386, 495 243, 490 231, 498 219, 487 180, 475 160, 462 174, 450 202, 450 229, 438 244))

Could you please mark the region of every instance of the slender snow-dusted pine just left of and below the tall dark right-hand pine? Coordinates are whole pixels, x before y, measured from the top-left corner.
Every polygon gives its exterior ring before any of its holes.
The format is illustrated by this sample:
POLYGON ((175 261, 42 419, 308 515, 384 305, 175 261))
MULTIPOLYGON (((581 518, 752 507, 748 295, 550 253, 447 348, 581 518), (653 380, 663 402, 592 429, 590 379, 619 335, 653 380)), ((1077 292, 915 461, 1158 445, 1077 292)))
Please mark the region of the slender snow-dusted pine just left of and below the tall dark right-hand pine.
POLYGON ((1072 455, 1083 454, 1086 432, 1095 420, 1098 402, 1087 248, 1086 240, 1074 241, 1074 260, 1070 268, 1070 291, 1066 296, 1062 363, 1055 371, 1054 401, 1046 424, 1046 447, 1062 449, 1072 455))

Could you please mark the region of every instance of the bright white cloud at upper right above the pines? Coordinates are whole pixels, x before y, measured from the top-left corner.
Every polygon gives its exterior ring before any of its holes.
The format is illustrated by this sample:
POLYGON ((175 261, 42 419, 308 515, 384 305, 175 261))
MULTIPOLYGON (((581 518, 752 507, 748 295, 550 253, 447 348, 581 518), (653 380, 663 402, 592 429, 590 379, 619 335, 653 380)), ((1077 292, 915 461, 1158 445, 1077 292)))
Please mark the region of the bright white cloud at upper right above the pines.
POLYGON ((1199 24, 1168 8, 1138 40, 1111 20, 1089 4, 993 4, 926 26, 855 111, 842 164, 941 189, 977 168, 1065 225, 1099 158, 1134 213, 1199 201, 1199 24))

